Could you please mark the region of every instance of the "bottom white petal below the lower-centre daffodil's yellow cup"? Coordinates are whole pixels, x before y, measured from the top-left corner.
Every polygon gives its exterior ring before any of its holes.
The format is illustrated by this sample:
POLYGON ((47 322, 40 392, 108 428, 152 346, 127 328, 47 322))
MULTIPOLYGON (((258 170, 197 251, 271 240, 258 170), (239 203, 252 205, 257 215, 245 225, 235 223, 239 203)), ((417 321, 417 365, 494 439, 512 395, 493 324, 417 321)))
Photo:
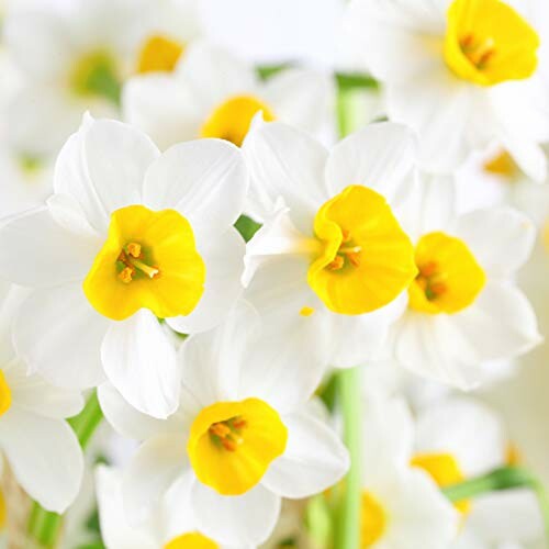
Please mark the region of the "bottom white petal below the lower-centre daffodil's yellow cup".
POLYGON ((199 530, 228 546, 262 544, 280 515, 280 497, 261 484, 244 495, 223 496, 197 480, 191 498, 199 530))

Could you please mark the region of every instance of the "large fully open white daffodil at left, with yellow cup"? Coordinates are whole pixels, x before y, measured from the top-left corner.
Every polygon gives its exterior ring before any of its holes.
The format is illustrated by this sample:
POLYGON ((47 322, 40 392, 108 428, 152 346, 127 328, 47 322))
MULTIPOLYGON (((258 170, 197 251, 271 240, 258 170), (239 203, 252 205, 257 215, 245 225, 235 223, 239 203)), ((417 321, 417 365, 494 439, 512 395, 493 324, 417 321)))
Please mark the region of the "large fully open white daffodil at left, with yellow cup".
POLYGON ((0 229, 0 272, 34 289, 14 326, 31 370, 64 386, 107 374, 142 412, 173 412, 176 351, 157 317, 199 332, 236 301, 244 242, 233 223, 246 189, 229 143, 160 155, 138 130, 87 117, 57 159, 47 206, 0 229))

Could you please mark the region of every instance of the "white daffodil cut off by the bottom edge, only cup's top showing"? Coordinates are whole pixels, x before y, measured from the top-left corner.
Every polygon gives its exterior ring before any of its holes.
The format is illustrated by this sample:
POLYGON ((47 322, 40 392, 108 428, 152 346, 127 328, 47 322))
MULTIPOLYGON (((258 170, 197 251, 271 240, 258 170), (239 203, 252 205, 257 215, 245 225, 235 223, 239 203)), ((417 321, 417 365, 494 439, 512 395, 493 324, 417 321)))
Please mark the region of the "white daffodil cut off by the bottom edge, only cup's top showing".
POLYGON ((124 513, 122 471, 98 467, 96 486, 107 549, 253 549, 221 546, 197 531, 190 493, 178 485, 168 491, 154 515, 139 526, 131 526, 124 513))

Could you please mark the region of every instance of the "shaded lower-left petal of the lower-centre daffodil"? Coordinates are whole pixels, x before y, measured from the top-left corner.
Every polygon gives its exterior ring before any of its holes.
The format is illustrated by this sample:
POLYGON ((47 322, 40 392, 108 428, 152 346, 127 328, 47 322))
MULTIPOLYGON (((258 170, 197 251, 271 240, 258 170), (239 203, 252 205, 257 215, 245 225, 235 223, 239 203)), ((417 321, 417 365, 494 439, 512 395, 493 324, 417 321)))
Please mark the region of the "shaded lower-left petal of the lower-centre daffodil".
POLYGON ((128 523, 136 525, 147 518, 188 467, 183 433, 158 435, 145 441, 122 481, 128 523))

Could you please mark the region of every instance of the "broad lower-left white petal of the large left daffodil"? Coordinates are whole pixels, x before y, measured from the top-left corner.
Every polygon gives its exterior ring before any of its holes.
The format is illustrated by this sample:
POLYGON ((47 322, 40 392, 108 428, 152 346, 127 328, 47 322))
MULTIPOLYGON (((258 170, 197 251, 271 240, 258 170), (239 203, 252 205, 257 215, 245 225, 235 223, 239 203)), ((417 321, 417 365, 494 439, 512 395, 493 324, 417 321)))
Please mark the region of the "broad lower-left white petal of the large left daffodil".
POLYGON ((80 283, 32 292, 14 322, 14 345, 31 371, 60 386, 103 381, 100 348, 109 321, 91 307, 80 283))

